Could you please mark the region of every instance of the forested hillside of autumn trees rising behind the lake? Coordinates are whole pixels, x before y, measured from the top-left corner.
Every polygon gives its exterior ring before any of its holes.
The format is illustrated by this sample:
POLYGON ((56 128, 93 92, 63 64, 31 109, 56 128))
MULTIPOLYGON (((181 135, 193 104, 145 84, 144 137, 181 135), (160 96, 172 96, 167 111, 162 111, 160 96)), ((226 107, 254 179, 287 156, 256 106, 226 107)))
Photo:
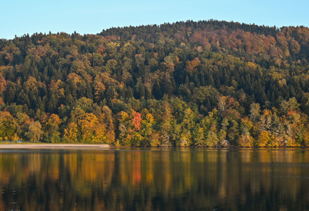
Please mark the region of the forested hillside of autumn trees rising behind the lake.
POLYGON ((226 21, 0 39, 0 141, 308 146, 309 28, 226 21))

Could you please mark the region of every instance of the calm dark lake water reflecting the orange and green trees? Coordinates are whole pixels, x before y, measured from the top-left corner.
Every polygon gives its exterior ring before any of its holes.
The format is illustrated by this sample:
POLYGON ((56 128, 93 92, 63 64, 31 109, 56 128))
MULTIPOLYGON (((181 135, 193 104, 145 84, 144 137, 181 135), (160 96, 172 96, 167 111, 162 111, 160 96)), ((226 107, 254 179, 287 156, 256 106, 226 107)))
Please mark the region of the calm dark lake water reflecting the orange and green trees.
POLYGON ((0 191, 0 210, 308 210, 309 150, 0 150, 0 191))

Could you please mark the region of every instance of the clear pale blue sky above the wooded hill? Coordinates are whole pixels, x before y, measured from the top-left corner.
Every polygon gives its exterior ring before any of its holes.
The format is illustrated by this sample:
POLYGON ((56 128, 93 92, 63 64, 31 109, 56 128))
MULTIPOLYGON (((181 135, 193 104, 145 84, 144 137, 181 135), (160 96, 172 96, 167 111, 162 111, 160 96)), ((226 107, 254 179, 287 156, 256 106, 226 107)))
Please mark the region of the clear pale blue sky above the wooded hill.
POLYGON ((188 19, 309 26, 308 0, 4 0, 0 5, 0 38, 6 39, 49 31, 93 34, 110 27, 188 19))

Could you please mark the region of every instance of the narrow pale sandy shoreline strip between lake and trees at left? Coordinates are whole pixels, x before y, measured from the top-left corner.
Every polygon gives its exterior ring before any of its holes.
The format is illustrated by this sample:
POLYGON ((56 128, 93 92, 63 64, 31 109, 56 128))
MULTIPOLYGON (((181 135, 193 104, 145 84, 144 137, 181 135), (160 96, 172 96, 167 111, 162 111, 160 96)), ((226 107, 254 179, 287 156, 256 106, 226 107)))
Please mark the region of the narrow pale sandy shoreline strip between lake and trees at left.
POLYGON ((108 148, 108 144, 0 144, 0 149, 19 148, 108 148))

